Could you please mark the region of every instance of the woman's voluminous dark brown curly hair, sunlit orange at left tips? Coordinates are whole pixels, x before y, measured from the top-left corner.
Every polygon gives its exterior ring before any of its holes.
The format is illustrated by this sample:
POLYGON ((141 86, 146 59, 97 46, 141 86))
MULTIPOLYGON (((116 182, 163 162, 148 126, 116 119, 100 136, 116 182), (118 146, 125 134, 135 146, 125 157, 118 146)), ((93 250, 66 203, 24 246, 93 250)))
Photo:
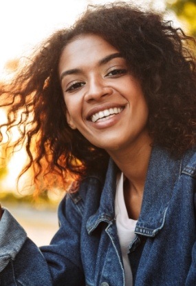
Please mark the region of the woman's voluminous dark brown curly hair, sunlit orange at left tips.
POLYGON ((67 124, 58 76, 58 62, 67 43, 91 33, 117 48, 140 80, 153 143, 175 156, 195 146, 194 39, 157 12, 122 2, 88 6, 71 28, 58 30, 43 42, 9 87, 2 87, 2 96, 7 95, 1 106, 8 109, 8 132, 18 126, 21 137, 15 146, 25 143, 30 158, 23 172, 33 167, 35 181, 40 174, 84 176, 107 166, 105 150, 91 145, 67 124))

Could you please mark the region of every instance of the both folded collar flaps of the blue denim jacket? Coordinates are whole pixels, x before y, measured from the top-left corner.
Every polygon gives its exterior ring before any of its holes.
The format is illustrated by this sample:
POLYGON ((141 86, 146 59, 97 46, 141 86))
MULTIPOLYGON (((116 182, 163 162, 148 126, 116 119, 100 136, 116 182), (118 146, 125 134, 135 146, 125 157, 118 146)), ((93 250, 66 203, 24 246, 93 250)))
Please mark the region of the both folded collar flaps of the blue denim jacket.
MULTIPOLYGON (((183 159, 175 160, 160 147, 153 147, 146 175, 142 208, 135 233, 155 236, 164 226, 168 203, 173 193, 175 181, 182 168, 188 163, 193 152, 187 152, 183 159)), ((112 223, 115 218, 114 201, 116 194, 116 174, 118 168, 110 159, 105 185, 100 198, 100 207, 87 221, 87 232, 98 227, 101 222, 112 223)))

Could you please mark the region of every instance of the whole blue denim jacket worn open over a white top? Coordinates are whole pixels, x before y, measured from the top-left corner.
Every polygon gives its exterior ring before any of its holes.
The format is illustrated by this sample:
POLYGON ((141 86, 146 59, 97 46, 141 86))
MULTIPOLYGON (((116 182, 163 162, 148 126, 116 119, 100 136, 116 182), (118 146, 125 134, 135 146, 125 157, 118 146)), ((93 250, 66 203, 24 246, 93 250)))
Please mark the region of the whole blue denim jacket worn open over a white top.
MULTIPOLYGON (((116 166, 92 175, 58 210, 60 228, 39 249, 5 210, 0 223, 0 285, 123 286, 116 231, 116 166)), ((146 177, 136 238, 129 245, 135 286, 196 285, 196 154, 173 160, 155 147, 146 177)))

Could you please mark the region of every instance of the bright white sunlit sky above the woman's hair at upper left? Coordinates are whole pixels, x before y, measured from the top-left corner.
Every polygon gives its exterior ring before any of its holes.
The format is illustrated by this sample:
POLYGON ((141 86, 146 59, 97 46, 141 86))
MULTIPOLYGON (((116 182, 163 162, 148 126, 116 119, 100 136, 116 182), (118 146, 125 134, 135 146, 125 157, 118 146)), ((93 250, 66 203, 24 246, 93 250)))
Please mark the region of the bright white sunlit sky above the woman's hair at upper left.
MULTIPOLYGON (((108 3, 115 0, 6 0, 0 1, 0 71, 9 61, 29 54, 37 43, 58 28, 72 25, 88 4, 108 3)), ((126 1, 126 0, 125 0, 126 1)), ((164 9, 164 0, 127 1, 145 7, 164 9)), ((1 78, 1 76, 0 76, 1 78)))

